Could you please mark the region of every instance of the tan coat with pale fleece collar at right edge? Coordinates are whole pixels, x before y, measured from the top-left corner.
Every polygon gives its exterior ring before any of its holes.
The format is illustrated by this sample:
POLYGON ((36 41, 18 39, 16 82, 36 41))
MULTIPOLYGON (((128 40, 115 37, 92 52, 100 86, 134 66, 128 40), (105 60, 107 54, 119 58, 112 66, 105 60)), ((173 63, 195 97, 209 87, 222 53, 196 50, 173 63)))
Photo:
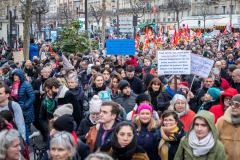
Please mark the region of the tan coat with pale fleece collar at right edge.
POLYGON ((232 123, 232 108, 229 107, 224 115, 216 123, 219 132, 219 140, 223 143, 226 152, 226 160, 240 159, 240 125, 232 123))

